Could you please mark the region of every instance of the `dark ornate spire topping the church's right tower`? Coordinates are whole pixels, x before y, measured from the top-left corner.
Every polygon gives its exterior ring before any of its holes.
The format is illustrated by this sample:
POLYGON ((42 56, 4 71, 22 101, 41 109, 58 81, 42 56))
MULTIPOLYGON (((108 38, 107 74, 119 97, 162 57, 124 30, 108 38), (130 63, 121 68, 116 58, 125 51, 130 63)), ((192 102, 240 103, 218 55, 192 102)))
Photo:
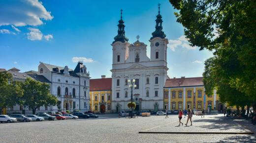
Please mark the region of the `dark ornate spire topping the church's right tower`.
POLYGON ((158 4, 158 15, 157 15, 157 20, 156 20, 156 30, 152 33, 152 37, 150 38, 153 39, 155 37, 160 37, 160 38, 165 38, 166 35, 162 31, 162 16, 160 15, 160 4, 158 4))

